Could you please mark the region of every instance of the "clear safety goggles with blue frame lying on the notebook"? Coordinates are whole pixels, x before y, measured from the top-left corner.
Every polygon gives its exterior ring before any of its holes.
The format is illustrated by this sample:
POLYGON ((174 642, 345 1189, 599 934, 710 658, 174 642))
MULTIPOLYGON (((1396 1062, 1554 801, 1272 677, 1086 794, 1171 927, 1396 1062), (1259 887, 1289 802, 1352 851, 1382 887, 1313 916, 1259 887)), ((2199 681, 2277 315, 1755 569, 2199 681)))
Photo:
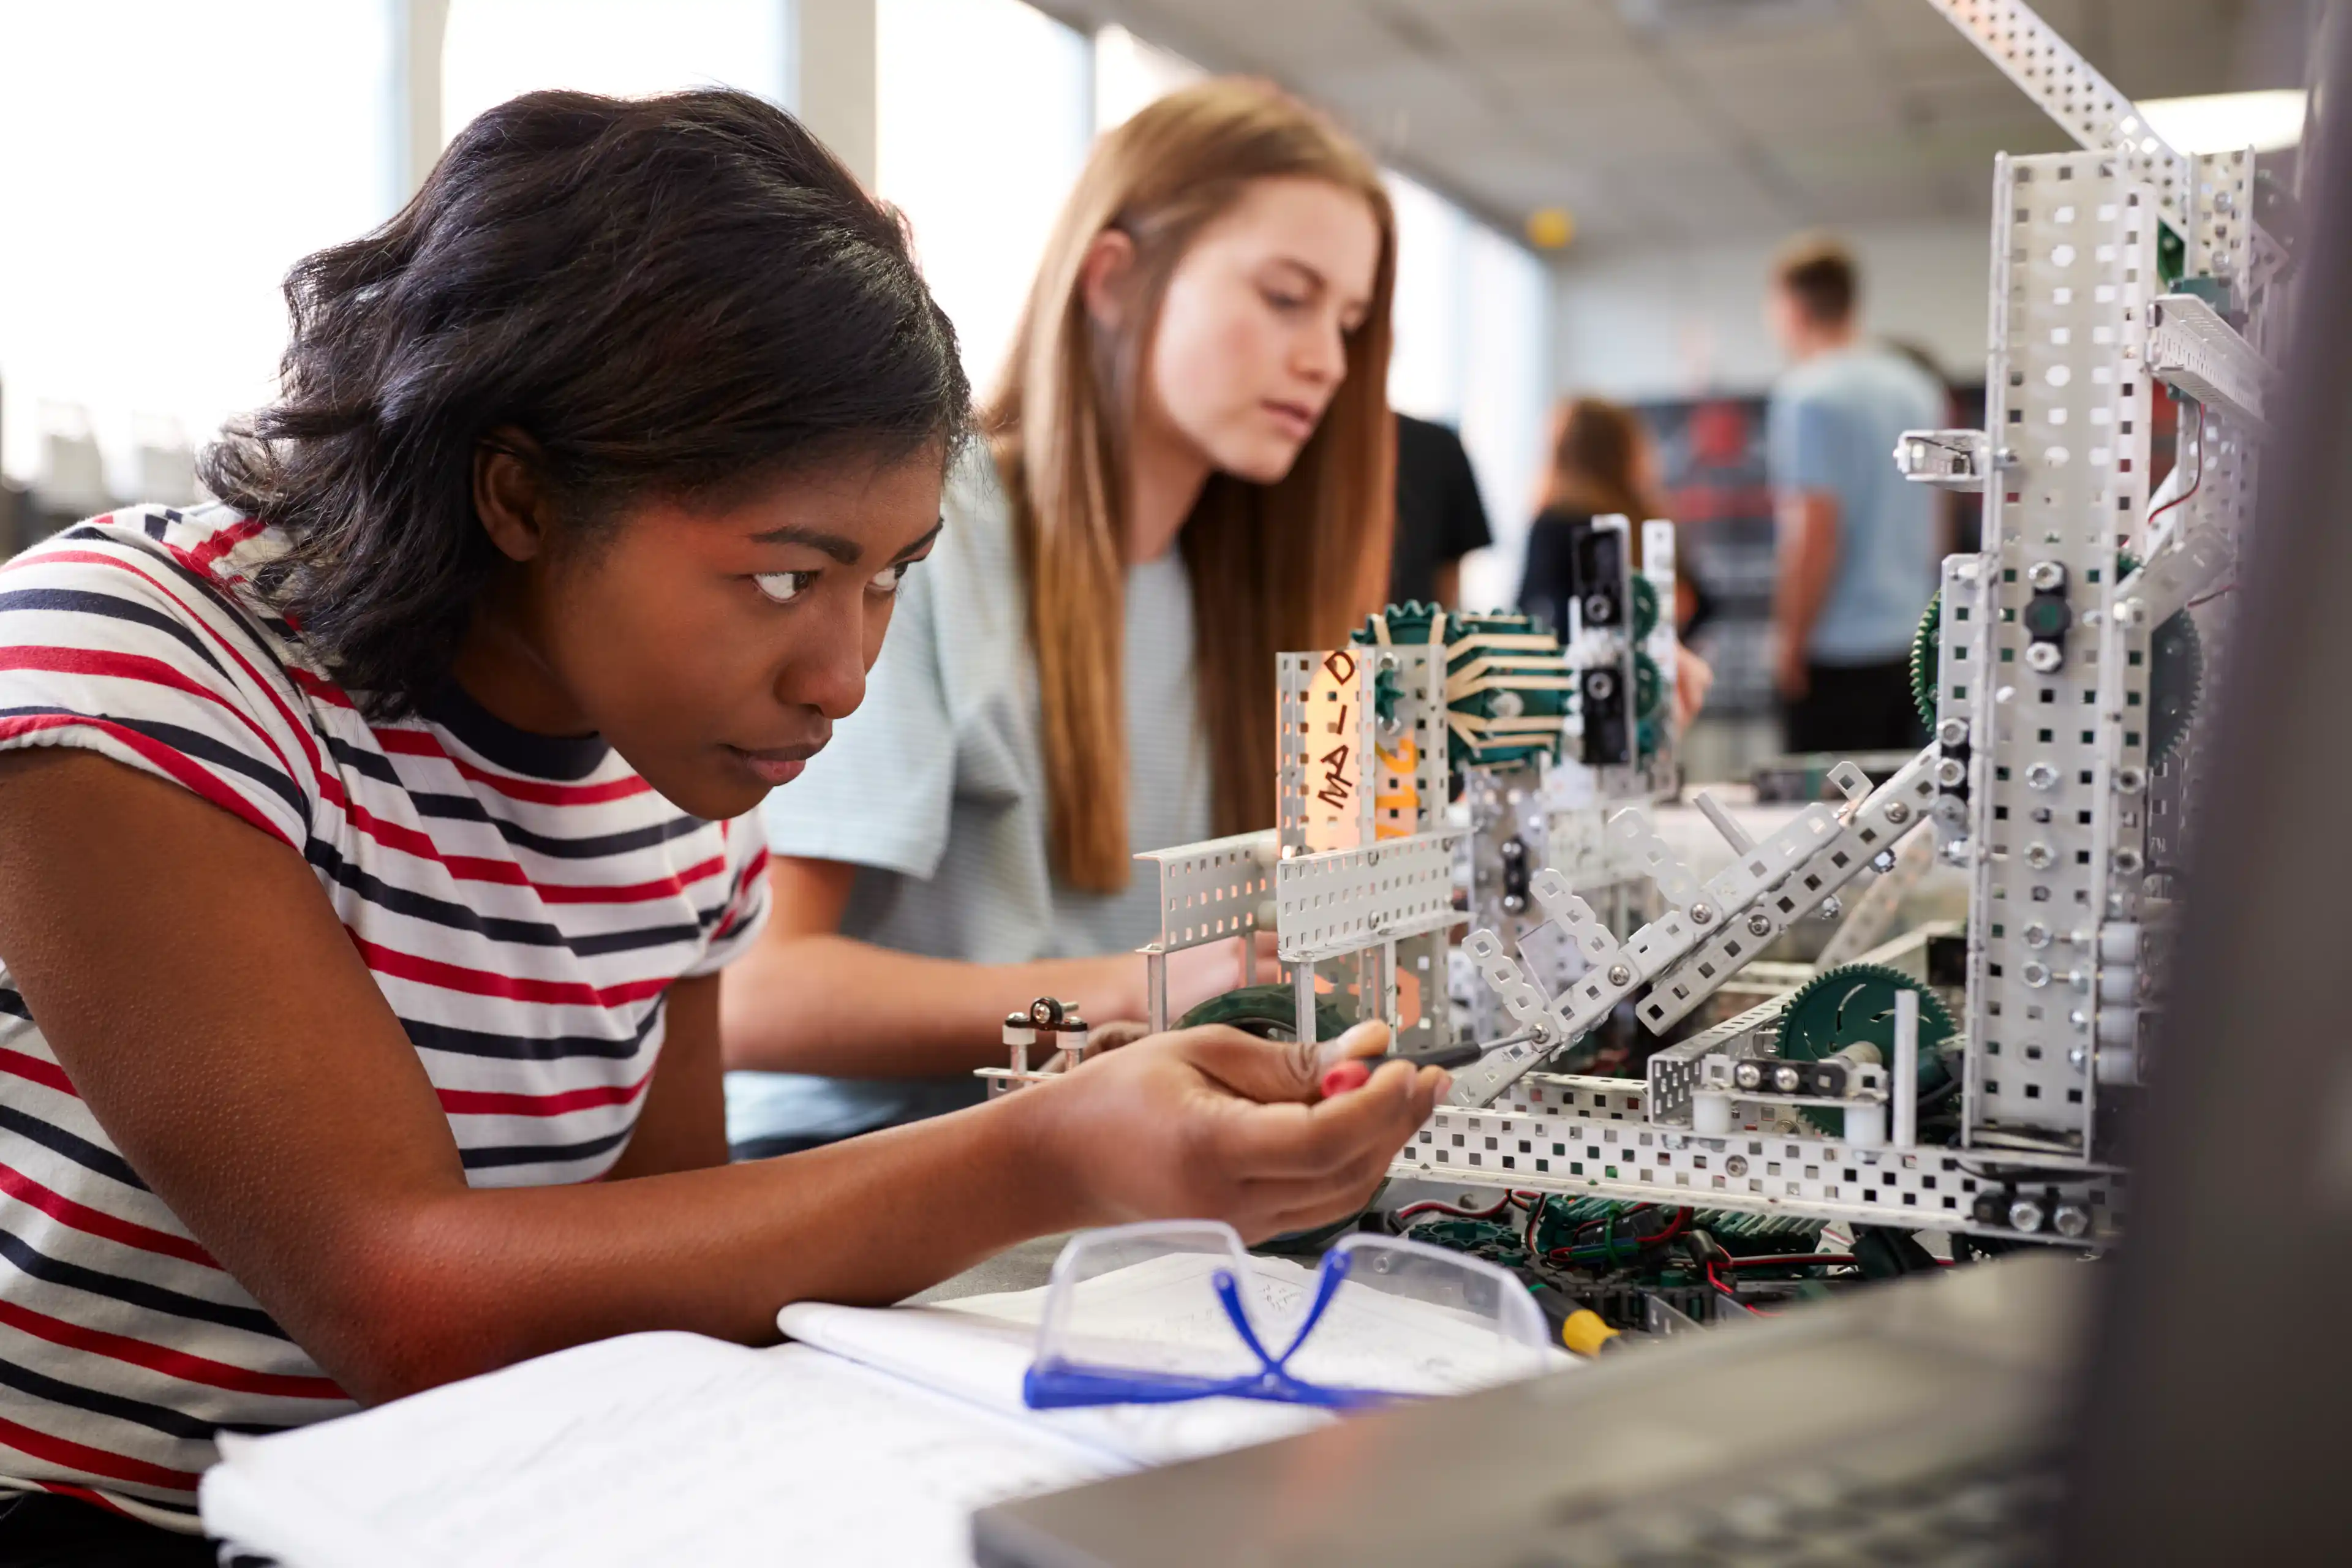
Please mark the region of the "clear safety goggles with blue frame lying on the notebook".
POLYGON ((1254 1260, 1230 1225, 1152 1220, 1063 1246, 1021 1392, 1033 1408, 1228 1396, 1357 1410, 1526 1378, 1545 1345, 1526 1288, 1477 1258, 1355 1234, 1310 1274, 1254 1260))

